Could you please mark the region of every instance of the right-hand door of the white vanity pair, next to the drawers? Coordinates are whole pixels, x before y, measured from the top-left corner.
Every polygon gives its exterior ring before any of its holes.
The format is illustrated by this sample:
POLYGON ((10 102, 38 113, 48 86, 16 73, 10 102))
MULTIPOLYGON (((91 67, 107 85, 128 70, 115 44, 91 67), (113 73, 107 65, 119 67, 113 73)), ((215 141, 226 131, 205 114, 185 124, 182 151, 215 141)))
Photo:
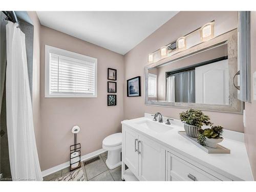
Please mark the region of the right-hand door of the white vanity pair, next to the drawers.
POLYGON ((139 135, 139 180, 165 181, 165 150, 142 135, 139 135))

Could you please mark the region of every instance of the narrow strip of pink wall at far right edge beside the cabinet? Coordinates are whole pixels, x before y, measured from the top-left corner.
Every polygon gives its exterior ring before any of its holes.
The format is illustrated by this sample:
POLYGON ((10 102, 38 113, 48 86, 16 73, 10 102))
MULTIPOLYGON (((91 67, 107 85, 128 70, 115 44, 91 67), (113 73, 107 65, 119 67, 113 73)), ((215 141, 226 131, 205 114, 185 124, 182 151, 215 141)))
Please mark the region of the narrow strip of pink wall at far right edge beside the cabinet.
POLYGON ((256 180, 256 101, 253 100, 252 74, 256 71, 256 12, 251 12, 251 103, 245 103, 245 144, 256 180))

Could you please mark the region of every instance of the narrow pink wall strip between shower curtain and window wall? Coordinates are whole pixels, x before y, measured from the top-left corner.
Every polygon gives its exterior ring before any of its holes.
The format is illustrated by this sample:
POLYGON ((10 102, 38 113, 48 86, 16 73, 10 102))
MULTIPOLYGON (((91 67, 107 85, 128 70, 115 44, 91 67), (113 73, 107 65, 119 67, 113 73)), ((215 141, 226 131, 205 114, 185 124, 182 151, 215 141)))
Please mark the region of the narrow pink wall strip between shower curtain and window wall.
POLYGON ((34 25, 33 38, 33 80, 32 80, 32 110, 34 131, 36 138, 36 147, 40 159, 40 144, 41 144, 41 124, 40 124, 40 28, 41 24, 35 11, 28 11, 34 25))

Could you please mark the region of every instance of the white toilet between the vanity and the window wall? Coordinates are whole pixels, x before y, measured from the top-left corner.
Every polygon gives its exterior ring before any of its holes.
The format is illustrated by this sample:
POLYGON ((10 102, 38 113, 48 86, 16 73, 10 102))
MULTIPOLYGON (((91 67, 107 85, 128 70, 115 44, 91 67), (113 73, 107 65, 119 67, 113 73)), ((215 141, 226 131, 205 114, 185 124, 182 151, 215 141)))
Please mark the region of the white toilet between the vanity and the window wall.
POLYGON ((109 169, 121 165, 122 133, 115 133, 103 139, 102 148, 108 151, 106 165, 109 169))

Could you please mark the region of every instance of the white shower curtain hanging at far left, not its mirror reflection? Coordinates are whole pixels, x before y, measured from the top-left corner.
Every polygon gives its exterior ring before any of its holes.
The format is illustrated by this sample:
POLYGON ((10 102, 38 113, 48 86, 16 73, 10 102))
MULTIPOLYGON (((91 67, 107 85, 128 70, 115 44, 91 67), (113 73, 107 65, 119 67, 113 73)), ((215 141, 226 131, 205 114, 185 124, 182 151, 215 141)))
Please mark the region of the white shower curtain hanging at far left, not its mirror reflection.
POLYGON ((29 89, 25 34, 17 24, 6 25, 6 113, 13 180, 41 181, 29 89))

